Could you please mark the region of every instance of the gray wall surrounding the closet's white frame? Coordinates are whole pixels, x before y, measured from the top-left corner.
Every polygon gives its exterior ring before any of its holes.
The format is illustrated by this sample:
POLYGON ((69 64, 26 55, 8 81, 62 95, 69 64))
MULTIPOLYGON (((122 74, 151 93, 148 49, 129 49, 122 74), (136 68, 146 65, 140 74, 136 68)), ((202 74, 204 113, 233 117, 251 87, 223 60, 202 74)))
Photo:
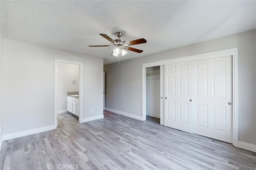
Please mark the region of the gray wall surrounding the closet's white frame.
POLYGON ((256 145, 256 30, 121 61, 120 65, 118 63, 105 65, 106 107, 142 115, 142 64, 144 63, 235 47, 238 47, 239 141, 256 145))

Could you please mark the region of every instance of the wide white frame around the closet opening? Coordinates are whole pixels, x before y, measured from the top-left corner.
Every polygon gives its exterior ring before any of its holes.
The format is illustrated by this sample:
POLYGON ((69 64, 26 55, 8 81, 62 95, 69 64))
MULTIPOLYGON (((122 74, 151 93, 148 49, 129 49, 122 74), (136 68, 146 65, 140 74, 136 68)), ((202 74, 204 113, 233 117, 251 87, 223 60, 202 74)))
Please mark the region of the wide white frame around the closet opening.
POLYGON ((142 64, 142 120, 146 120, 146 68, 165 64, 182 63, 224 56, 232 56, 232 88, 233 88, 233 145, 238 147, 238 48, 214 51, 188 57, 180 57, 164 61, 142 64))

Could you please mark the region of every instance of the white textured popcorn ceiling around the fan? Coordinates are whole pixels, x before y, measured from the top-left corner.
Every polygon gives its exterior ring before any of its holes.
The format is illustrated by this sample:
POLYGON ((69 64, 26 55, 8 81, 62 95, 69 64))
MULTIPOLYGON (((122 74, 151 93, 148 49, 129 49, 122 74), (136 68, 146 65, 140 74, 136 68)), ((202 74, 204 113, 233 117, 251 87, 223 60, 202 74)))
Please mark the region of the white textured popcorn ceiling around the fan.
POLYGON ((256 1, 1 1, 2 37, 118 61, 105 33, 145 38, 131 59, 256 29, 256 1))

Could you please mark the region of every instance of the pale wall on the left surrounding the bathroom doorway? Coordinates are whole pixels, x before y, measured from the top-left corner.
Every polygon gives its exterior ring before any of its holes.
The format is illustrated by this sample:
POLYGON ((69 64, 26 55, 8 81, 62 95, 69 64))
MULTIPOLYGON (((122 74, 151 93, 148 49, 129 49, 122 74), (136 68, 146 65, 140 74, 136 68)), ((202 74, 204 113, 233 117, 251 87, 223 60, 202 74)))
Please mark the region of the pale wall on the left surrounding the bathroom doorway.
POLYGON ((54 59, 83 64, 82 117, 103 114, 103 59, 11 39, 2 50, 3 135, 54 125, 54 59))

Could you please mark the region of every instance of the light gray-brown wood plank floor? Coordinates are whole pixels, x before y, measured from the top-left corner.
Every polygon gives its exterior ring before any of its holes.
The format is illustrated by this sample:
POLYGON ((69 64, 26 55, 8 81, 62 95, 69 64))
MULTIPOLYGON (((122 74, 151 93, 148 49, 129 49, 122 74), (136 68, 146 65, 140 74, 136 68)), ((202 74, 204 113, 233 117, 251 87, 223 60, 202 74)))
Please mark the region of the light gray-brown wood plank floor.
POLYGON ((0 170, 58 170, 63 164, 82 170, 255 170, 256 156, 150 117, 138 121, 108 111, 87 123, 58 114, 57 129, 4 141, 0 153, 0 170))

